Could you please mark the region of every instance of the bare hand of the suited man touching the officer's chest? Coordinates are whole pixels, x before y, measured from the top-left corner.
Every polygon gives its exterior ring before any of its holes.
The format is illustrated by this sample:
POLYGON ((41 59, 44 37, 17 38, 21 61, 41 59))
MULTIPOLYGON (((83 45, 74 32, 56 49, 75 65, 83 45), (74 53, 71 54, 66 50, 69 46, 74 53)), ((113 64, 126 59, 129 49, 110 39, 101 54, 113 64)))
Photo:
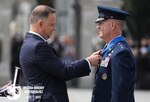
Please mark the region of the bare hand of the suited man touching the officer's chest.
POLYGON ((87 57, 87 60, 90 62, 91 66, 98 66, 102 60, 102 57, 100 56, 101 52, 102 50, 96 51, 87 57))

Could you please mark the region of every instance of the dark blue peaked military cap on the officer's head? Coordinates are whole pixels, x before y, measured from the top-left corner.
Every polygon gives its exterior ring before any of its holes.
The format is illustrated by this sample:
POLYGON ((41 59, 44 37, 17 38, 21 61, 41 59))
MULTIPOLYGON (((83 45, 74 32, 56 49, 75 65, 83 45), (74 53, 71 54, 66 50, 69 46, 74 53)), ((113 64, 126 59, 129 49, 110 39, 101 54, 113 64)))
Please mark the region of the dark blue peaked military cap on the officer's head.
POLYGON ((99 16, 95 23, 99 23, 107 19, 117 19, 125 21, 129 16, 127 12, 113 7, 97 6, 97 10, 99 16))

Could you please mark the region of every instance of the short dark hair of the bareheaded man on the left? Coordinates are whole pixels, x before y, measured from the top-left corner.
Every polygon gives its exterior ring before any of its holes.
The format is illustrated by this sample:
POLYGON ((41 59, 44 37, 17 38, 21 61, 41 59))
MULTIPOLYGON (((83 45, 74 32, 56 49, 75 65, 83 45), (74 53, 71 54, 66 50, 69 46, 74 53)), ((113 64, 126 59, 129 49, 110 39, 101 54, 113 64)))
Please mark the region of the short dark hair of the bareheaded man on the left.
POLYGON ((30 14, 30 24, 36 23, 38 20, 43 18, 48 18, 50 13, 55 13, 55 9, 46 6, 46 5, 38 5, 36 6, 31 14, 30 14))

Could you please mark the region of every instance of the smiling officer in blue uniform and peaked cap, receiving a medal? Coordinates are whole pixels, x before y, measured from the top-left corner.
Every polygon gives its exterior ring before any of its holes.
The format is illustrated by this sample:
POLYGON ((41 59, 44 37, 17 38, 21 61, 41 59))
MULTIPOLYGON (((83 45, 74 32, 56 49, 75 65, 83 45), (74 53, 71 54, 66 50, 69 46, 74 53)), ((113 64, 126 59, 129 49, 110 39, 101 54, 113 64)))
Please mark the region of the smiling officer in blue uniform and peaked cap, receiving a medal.
POLYGON ((97 69, 92 102, 135 102, 135 59, 121 35, 129 14, 117 8, 97 6, 98 35, 106 42, 97 69))

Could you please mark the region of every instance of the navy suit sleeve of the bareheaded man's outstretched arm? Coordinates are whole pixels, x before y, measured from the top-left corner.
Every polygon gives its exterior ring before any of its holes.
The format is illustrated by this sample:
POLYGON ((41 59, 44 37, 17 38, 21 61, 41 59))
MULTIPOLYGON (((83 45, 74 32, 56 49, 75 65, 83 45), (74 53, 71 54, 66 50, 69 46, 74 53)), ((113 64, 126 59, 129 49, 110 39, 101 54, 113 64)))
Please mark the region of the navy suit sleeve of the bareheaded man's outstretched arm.
POLYGON ((63 63, 54 53, 53 48, 40 43, 35 50, 35 63, 49 75, 61 80, 89 75, 90 68, 85 59, 69 64, 63 63))

